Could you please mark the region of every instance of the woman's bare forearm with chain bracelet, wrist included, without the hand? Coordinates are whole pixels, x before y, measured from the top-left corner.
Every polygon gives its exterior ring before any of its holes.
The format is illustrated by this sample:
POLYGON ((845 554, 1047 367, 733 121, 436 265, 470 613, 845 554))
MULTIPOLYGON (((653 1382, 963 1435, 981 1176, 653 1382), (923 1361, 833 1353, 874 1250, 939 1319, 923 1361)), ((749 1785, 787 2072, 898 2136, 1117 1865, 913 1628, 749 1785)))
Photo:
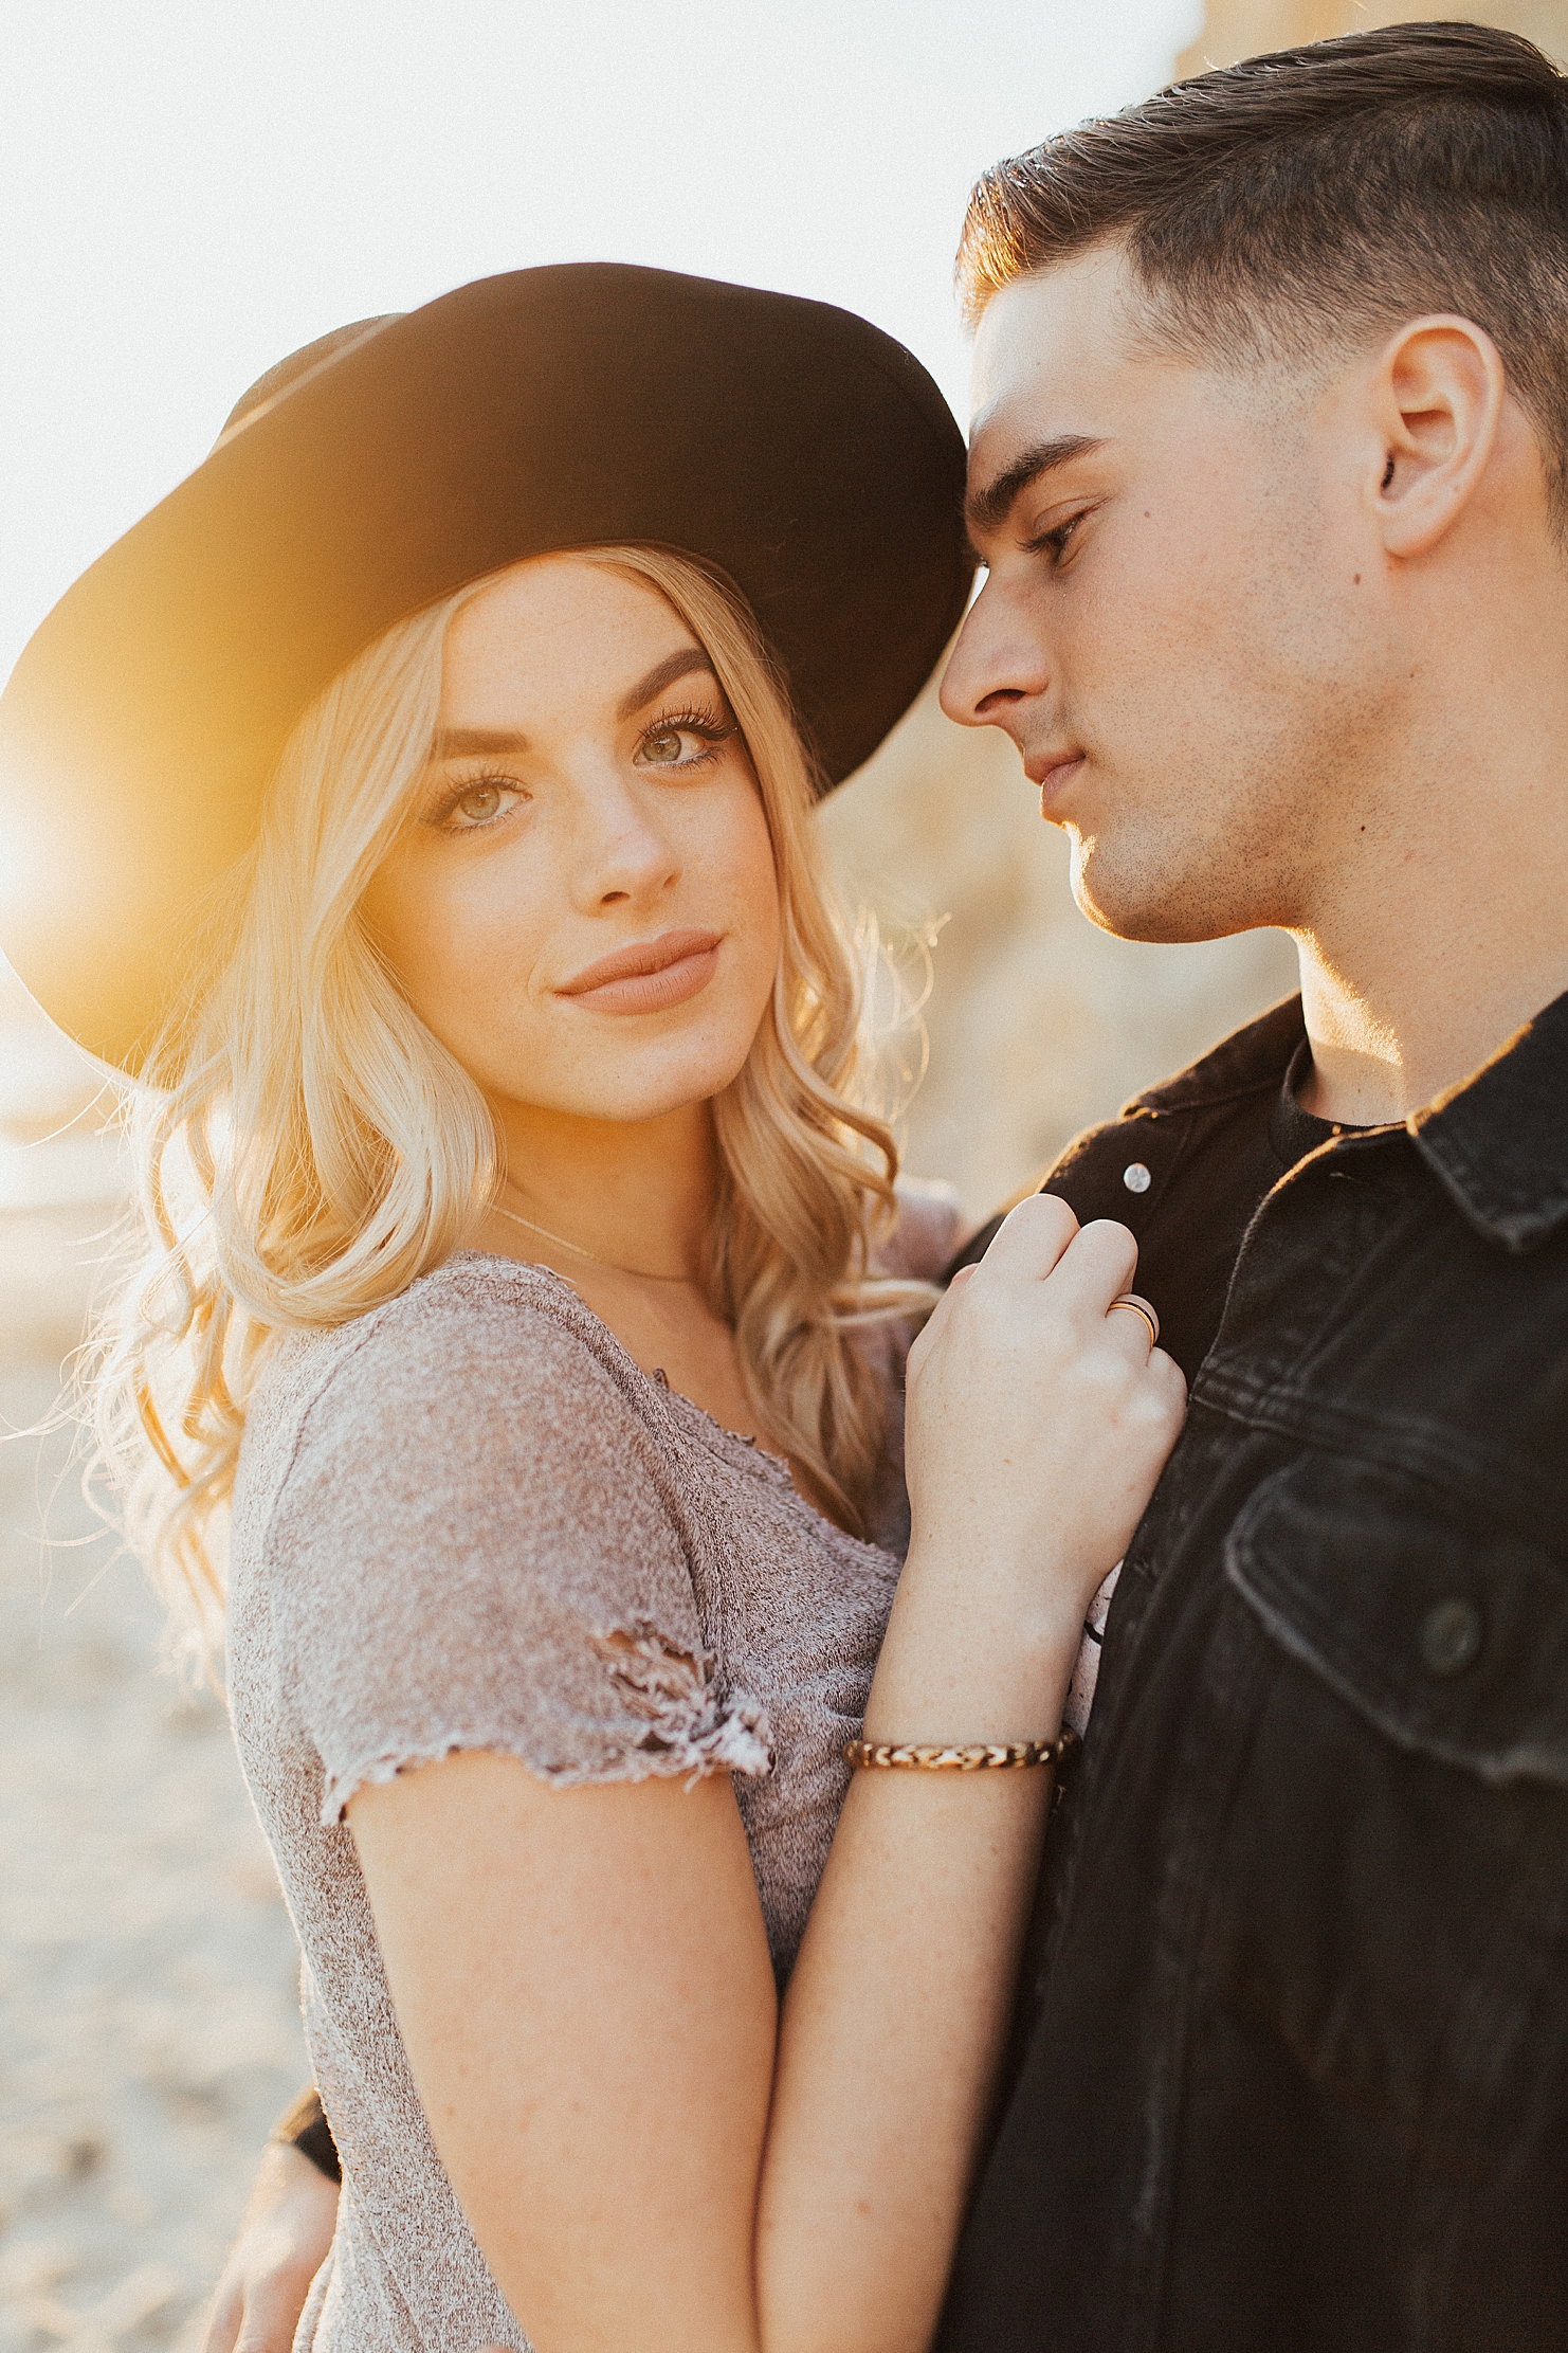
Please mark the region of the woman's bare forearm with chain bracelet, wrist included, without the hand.
MULTIPOLYGON (((1048 1739, 1081 1626, 910 1558, 867 1739, 1048 1739)), ((858 1772, 790 1984, 757 2235, 764 2353, 919 2353, 1018 1972, 1051 1772, 858 1772)))

